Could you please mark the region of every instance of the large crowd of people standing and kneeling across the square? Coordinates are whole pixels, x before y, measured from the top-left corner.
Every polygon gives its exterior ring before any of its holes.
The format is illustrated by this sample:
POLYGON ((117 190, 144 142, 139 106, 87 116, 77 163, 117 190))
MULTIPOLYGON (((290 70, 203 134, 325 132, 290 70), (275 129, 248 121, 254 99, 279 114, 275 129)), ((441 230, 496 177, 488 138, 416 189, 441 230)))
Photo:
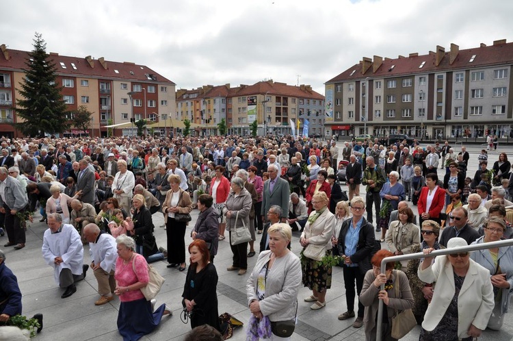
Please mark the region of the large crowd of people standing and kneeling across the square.
POLYGON ((472 178, 466 174, 473 162, 469 153, 462 147, 456 154, 448 142, 344 145, 339 150, 335 141, 290 136, 4 138, 4 247, 25 247, 26 220, 40 210, 40 221, 49 227, 42 254, 57 286, 64 288, 62 298, 77 291, 75 283, 91 268, 98 282, 94 304, 119 296, 118 330, 124 340, 141 338, 162 316, 172 315, 166 305, 155 310, 155 302, 141 292, 148 283, 148 263, 159 260, 168 268, 187 270, 183 309, 191 326, 207 324, 223 331, 211 297, 216 297, 218 282, 213 262, 225 238, 233 254, 226 270, 241 276, 250 272, 246 292, 250 329, 257 338, 265 338, 259 325, 267 323, 271 338, 289 340, 283 324, 297 318, 301 284, 311 290, 304 298, 312 303, 311 310, 326 306, 332 260, 343 268, 347 301, 347 311, 338 318, 354 318, 356 328, 365 325, 369 340, 376 338, 378 300, 387 307, 386 340, 391 340, 395 310, 412 309, 423 327, 421 340, 465 339, 486 327, 500 329, 513 284, 513 248, 435 260, 428 254, 513 236, 508 155, 500 153, 488 169, 484 150, 472 178), (365 193, 360 194, 360 186, 365 193), (192 210, 198 210, 196 222, 192 210), (166 240, 155 238, 153 218, 159 214, 166 240), (187 228, 192 229, 189 245, 187 228), (381 233, 377 240, 375 232, 381 233), (300 257, 290 251, 293 236, 302 246, 300 257), (91 264, 83 264, 85 245, 91 264), (380 273, 385 257, 417 252, 426 253, 423 261, 389 263, 386 273, 380 273), (248 269, 248 258, 257 253, 256 266, 248 269), (453 290, 436 290, 436 281, 447 280, 439 276, 448 268, 453 290), (470 285, 484 303, 464 309, 478 316, 463 316, 453 303, 468 272, 479 276, 470 285), (382 284, 385 290, 380 290, 382 284), (444 314, 432 312, 431 301, 447 303, 444 314))

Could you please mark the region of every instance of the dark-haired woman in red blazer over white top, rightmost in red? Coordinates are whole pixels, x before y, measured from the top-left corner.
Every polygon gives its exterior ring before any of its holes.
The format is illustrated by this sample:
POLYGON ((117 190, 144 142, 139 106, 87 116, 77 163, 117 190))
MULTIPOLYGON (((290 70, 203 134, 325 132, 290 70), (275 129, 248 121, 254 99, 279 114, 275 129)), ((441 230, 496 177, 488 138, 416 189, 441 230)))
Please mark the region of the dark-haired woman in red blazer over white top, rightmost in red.
POLYGON ((445 190, 437 186, 438 175, 430 173, 425 176, 426 186, 422 188, 417 207, 419 208, 419 225, 423 220, 434 220, 440 224, 440 212, 445 205, 445 190))

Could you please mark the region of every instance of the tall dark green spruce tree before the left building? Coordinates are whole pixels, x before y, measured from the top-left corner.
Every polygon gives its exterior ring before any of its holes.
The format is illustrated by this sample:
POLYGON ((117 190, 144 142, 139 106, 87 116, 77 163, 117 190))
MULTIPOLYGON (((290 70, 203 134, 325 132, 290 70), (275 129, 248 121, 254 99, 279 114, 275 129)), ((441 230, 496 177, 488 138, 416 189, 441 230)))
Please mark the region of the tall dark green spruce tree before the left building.
POLYGON ((62 99, 61 86, 55 83, 57 68, 47 54, 47 43, 36 32, 34 50, 25 62, 24 82, 17 99, 16 115, 24 122, 14 127, 24 135, 44 136, 63 133, 69 127, 68 108, 62 99))

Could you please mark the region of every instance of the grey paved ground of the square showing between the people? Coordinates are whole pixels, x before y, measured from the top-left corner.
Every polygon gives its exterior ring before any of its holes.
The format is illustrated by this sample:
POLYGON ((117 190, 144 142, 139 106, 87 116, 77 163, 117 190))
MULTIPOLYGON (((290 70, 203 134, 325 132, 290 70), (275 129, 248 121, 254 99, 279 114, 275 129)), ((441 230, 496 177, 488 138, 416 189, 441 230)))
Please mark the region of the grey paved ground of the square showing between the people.
MULTIPOLYGON (((339 142, 343 147, 343 142, 339 142)), ((459 149, 459 148, 458 148, 459 149)), ((469 172, 471 176, 477 170, 477 151, 480 147, 469 147, 471 162, 469 172)), ((508 150, 505 150, 508 152, 508 150)), ((510 147, 509 152, 513 151, 510 147)), ((490 167, 492 162, 497 160, 498 152, 490 153, 490 167)), ((511 155, 511 154, 510 154, 511 155)), ((443 170, 438 170, 438 175, 443 175, 443 170)), ((347 190, 343 186, 343 190, 347 190)), ((364 188, 362 188, 363 192, 364 188)), ((414 207, 414 212, 417 212, 414 207)), ((198 210, 192 213, 194 225, 198 216, 198 210)), ((34 220, 38 220, 36 217, 34 220)), ((159 246, 166 247, 166 231, 158 228, 163 222, 163 216, 159 213, 154 215, 156 228, 155 236, 159 246)), ((33 223, 27 231, 27 246, 20 251, 12 248, 4 248, 7 255, 6 264, 18 277, 21 291, 23 293, 23 312, 26 316, 32 316, 36 312, 44 314, 44 329, 38 334, 35 340, 120 340, 116 328, 119 301, 115 299, 105 305, 95 306, 94 301, 98 299, 96 292, 96 280, 89 271, 85 281, 77 284, 77 292, 68 299, 61 299, 62 289, 57 288, 53 280, 53 271, 44 264, 41 256, 42 236, 47 227, 44 223, 33 223)), ((187 229, 185 242, 188 244, 191 239, 188 237, 190 227, 187 229)), ((259 235, 257 235, 259 236, 259 235)), ((379 238, 378 233, 376 237, 379 238)), ((0 244, 4 244, 7 238, 0 238, 0 244)), ((293 233, 292 251, 299 254, 299 233, 293 233)), ((257 249, 258 251, 258 249, 257 249)), ((218 300, 219 312, 229 312, 244 323, 248 322, 250 312, 246 303, 246 281, 249 272, 244 276, 237 273, 227 272, 226 267, 231 265, 231 250, 227 240, 220 242, 220 251, 215 257, 215 266, 218 269, 218 300)), ((257 256, 249 259, 249 268, 254 266, 257 256)), ((85 247, 84 264, 90 264, 88 247, 85 247)), ((142 340, 183 340, 185 333, 190 330, 190 325, 181 322, 181 294, 185 282, 186 272, 179 272, 177 269, 166 268, 165 262, 153 264, 159 273, 166 277, 166 283, 157 296, 157 304, 166 303, 174 312, 172 317, 164 317, 159 327, 142 340)), ((302 298, 311 292, 307 288, 301 288, 298 295, 298 325, 292 340, 365 340, 363 328, 352 327, 352 320, 339 321, 338 314, 345 312, 345 294, 341 268, 333 269, 332 287, 326 296, 327 305, 321 310, 310 309, 311 303, 305 303, 302 298)), ((413 329, 403 340, 418 340, 419 327, 413 329)), ((505 323, 501 331, 484 331, 479 340, 512 340, 513 318, 511 314, 505 317, 505 323)), ((236 329, 232 340, 246 340, 244 329, 236 329)))

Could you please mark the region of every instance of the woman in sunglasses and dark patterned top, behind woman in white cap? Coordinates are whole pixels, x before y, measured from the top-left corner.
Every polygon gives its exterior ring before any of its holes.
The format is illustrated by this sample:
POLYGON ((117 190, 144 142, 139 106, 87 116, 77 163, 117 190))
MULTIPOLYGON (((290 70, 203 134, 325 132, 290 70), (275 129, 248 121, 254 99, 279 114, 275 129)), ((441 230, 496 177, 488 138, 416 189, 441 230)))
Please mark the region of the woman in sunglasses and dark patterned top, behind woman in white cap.
MULTIPOLYGON (((438 225, 436 221, 424 220, 421 229, 421 235, 424 240, 420 244, 414 244, 410 249, 410 253, 422 252, 425 249, 445 249, 443 245, 438 244, 439 234, 440 225, 438 225)), ((413 299, 415 299, 412 312, 415 315, 418 325, 421 325, 424 320, 424 314, 425 311, 428 310, 428 304, 431 302, 434 290, 434 283, 424 283, 419 279, 419 276, 417 276, 420 263, 421 260, 409 260, 408 265, 406 265, 406 275, 408 275, 408 279, 410 279, 410 288, 412 289, 413 299)))

